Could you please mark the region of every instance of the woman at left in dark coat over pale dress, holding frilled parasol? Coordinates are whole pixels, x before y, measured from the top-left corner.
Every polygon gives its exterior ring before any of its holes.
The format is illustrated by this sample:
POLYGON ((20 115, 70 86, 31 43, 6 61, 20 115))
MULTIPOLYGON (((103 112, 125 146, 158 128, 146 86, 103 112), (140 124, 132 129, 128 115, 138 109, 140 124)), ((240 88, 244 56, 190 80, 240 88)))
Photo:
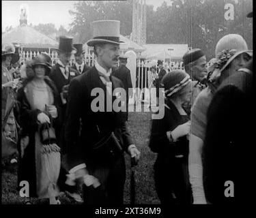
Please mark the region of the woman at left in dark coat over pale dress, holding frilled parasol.
MULTIPOLYGON (((20 140, 18 143, 20 164, 18 184, 29 182, 29 197, 49 198, 50 204, 58 204, 57 178, 59 176, 60 155, 57 144, 48 144, 47 157, 42 149, 41 127, 55 128, 58 123, 59 100, 57 89, 48 78, 51 65, 44 55, 38 55, 31 63, 34 74, 23 81, 18 90, 20 103, 20 140), (46 161, 46 162, 45 162, 46 161)), ((55 141, 54 141, 55 142, 55 141)))

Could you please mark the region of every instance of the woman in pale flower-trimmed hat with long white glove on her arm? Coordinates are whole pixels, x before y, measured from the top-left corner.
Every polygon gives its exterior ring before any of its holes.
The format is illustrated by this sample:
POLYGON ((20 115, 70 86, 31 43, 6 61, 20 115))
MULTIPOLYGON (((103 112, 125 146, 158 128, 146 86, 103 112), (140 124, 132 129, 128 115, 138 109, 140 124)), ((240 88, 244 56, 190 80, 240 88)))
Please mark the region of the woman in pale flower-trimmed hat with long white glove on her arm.
POLYGON ((210 86, 199 93, 191 111, 189 173, 194 204, 207 203, 203 189, 201 151, 205 140, 208 107, 216 89, 225 79, 236 74, 251 59, 251 55, 244 38, 238 34, 225 35, 216 44, 214 67, 208 75, 210 86))

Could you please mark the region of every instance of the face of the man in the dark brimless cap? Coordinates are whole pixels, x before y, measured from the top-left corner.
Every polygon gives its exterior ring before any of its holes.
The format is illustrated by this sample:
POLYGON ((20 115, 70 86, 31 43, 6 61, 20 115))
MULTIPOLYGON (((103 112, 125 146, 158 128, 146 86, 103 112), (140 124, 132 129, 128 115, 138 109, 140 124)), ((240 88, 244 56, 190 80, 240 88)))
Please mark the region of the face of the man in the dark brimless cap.
POLYGON ((206 64, 207 61, 205 56, 197 59, 196 63, 191 67, 191 76, 194 80, 201 81, 205 76, 207 76, 206 64))

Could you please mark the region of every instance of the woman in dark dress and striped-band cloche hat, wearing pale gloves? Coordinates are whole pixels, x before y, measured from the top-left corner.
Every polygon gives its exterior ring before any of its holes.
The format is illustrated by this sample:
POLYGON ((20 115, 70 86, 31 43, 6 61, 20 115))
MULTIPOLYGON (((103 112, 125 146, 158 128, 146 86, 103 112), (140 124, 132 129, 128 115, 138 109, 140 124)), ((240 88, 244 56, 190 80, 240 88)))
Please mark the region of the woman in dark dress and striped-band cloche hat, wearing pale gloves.
POLYGON ((191 79, 186 72, 174 70, 162 78, 162 87, 165 116, 152 121, 150 136, 150 149, 158 153, 154 163, 156 191, 162 204, 190 204, 187 138, 190 121, 182 104, 191 100, 191 79))

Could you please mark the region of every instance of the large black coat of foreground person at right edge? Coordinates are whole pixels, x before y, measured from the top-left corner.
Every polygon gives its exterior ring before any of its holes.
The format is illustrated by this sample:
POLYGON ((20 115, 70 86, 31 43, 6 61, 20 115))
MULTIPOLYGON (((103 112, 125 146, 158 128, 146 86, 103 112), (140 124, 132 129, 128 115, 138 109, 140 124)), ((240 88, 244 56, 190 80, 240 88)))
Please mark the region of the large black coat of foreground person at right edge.
POLYGON ((203 186, 205 197, 212 204, 232 204, 247 198, 238 195, 252 173, 247 169, 255 141, 255 128, 251 125, 255 118, 253 99, 253 74, 236 72, 222 82, 208 108, 203 186), (238 190, 235 198, 227 198, 224 194, 225 189, 231 187, 230 184, 225 187, 227 181, 233 182, 238 190))

